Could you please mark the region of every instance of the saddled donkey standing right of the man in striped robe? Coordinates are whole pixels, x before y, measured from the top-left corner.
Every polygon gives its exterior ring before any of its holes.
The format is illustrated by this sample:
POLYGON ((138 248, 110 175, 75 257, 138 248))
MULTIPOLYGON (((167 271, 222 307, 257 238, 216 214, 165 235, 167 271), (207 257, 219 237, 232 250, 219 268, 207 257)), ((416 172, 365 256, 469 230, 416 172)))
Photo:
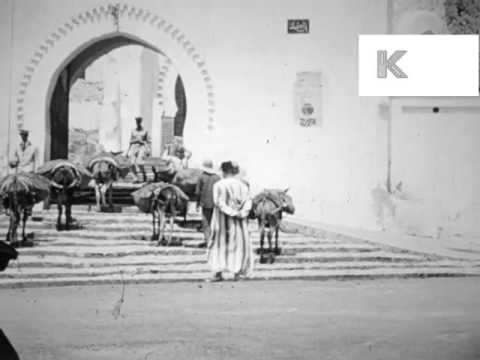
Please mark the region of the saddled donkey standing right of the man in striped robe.
POLYGON ((280 255, 281 250, 278 247, 278 231, 282 220, 283 212, 293 214, 295 206, 290 195, 286 190, 264 190, 254 197, 251 217, 258 220, 260 229, 260 263, 265 263, 265 232, 268 229, 269 262, 274 262, 275 255, 280 255), (275 233, 275 250, 272 249, 272 238, 275 233))

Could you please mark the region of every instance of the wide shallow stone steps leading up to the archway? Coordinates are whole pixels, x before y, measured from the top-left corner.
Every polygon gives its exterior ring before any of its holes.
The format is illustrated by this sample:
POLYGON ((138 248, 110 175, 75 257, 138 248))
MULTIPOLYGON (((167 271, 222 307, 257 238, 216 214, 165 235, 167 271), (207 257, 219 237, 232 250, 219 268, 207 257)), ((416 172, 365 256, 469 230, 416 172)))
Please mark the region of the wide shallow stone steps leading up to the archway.
MULTIPOLYGON (((201 281, 209 277, 202 234, 195 221, 176 225, 177 246, 150 241, 151 218, 133 206, 120 213, 98 213, 77 205, 74 217, 81 228, 58 232, 56 210, 34 210, 27 232, 35 247, 20 248, 19 257, 0 273, 0 287, 201 281)), ((195 214, 190 219, 196 219, 195 214)), ((8 218, 0 216, 4 238, 8 218)), ((254 280, 360 279, 390 277, 465 276, 479 273, 479 264, 386 248, 342 237, 314 237, 290 229, 280 235, 282 254, 273 264, 256 256, 254 280)), ((254 247, 258 232, 252 222, 254 247)))

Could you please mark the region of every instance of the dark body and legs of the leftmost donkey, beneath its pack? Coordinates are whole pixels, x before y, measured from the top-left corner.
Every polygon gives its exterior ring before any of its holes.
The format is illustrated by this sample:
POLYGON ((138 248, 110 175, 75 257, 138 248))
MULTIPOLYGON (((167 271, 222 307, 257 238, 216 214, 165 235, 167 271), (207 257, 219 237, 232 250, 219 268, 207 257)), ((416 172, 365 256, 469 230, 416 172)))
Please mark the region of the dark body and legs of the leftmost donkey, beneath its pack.
POLYGON ((8 193, 8 196, 2 199, 2 205, 10 217, 10 223, 7 232, 7 242, 14 247, 33 246, 33 242, 27 239, 25 227, 28 217, 32 215, 32 207, 34 204, 33 195, 27 192, 8 193), (17 229, 22 221, 22 241, 18 241, 17 229))

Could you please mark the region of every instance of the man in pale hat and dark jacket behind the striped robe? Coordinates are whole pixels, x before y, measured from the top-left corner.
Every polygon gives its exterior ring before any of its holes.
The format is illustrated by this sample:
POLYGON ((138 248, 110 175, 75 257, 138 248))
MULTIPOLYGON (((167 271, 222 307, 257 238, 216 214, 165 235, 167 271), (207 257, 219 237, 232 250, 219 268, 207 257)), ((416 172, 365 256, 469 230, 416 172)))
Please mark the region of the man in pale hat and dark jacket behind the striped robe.
POLYGON ((213 185, 220 180, 213 170, 212 160, 205 160, 203 162, 203 173, 197 183, 197 209, 202 208, 202 229, 205 237, 205 242, 202 246, 206 246, 210 237, 210 222, 212 220, 213 208, 213 185))

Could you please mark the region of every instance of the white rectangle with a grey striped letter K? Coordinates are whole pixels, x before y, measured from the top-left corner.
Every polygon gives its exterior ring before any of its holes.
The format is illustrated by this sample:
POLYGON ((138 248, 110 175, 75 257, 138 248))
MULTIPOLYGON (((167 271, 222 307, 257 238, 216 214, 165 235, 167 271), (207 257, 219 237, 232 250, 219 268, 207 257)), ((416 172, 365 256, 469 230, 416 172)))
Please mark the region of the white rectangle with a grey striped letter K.
POLYGON ((478 96, 478 35, 359 35, 360 96, 478 96))

